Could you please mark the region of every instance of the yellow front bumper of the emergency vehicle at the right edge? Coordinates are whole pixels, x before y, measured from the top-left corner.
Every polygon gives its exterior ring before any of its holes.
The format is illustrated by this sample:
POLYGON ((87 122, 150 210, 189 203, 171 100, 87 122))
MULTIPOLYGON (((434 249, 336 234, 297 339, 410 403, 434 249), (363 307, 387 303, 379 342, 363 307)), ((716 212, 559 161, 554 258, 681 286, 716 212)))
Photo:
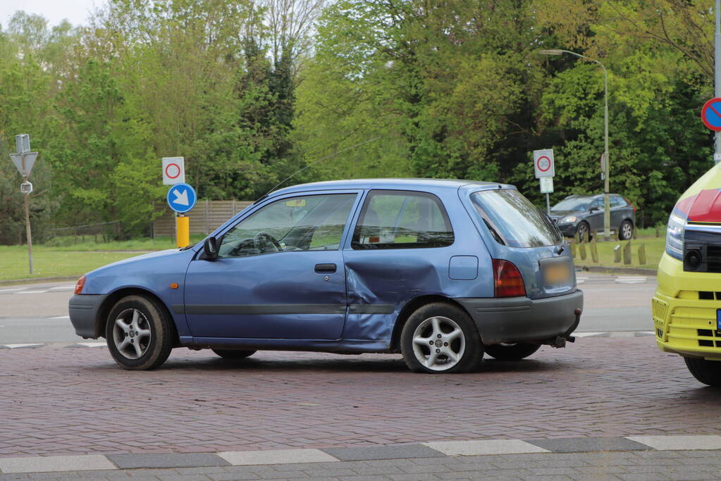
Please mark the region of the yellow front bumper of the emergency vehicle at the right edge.
POLYGON ((663 253, 656 279, 651 313, 658 348, 721 361, 721 330, 717 325, 721 274, 686 272, 683 262, 663 253))

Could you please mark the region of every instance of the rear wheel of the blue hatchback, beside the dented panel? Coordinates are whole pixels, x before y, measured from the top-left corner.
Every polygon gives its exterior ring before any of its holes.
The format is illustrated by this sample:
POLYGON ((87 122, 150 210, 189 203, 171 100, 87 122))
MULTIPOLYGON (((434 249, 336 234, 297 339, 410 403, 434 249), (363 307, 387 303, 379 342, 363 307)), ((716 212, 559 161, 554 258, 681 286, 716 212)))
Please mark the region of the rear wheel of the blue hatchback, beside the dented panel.
POLYGON ((401 351, 412 372, 471 372, 483 357, 483 343, 464 310, 433 302, 408 318, 401 333, 401 351))

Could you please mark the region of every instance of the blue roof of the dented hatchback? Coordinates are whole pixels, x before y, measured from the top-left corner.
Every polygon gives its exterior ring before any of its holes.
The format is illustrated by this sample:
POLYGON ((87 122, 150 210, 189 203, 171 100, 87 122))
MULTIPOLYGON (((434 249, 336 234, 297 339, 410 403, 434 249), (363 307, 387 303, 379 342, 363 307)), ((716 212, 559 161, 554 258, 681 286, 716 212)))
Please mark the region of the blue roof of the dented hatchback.
POLYGON ((502 188, 513 187, 508 184, 499 184, 498 182, 472 181, 463 179, 348 179, 311 182, 309 184, 298 184, 276 190, 268 195, 275 197, 276 195, 291 194, 293 192, 332 189, 458 189, 461 186, 467 185, 500 185, 502 186, 502 188))

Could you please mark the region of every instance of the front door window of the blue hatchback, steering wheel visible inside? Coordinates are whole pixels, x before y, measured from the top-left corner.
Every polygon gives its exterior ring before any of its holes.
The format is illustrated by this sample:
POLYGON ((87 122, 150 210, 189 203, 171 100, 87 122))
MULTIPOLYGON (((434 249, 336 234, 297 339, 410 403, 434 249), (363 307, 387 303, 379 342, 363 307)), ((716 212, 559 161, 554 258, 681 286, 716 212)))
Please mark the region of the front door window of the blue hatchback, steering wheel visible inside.
POLYGON ((356 194, 306 195, 267 204, 229 230, 218 257, 340 248, 356 194))

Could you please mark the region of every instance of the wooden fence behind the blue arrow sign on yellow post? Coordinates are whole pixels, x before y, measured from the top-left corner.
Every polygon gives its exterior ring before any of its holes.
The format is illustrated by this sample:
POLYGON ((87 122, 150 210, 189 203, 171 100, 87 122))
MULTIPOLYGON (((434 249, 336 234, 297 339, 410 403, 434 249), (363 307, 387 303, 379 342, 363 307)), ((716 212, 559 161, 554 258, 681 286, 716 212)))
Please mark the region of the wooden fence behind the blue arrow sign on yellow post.
MULTIPOLYGON (((251 200, 200 200, 186 214, 190 217, 190 233, 208 235, 252 203, 251 200)), ((154 220, 153 237, 161 235, 175 236, 175 212, 166 212, 154 220)))

